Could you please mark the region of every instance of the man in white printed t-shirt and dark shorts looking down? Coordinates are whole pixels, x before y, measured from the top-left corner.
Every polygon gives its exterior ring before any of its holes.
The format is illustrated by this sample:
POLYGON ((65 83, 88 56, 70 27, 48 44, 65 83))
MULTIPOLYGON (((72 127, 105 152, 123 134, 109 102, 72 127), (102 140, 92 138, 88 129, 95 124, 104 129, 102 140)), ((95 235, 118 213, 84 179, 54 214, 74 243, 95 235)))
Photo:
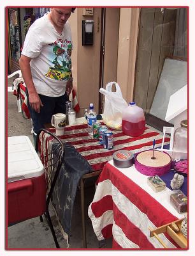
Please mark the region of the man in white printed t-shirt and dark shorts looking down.
POLYGON ((67 20, 75 8, 51 8, 36 20, 25 37, 19 60, 27 86, 34 139, 55 113, 66 113, 73 88, 71 29, 67 20))

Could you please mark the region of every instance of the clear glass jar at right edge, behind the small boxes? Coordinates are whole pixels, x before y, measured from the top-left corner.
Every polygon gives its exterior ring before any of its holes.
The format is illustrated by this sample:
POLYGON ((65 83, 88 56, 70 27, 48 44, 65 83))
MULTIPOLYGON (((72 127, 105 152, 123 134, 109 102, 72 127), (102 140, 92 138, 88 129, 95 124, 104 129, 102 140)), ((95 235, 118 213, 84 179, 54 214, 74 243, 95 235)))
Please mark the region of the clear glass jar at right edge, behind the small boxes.
POLYGON ((173 136, 173 161, 187 159, 187 120, 183 120, 180 125, 173 136))

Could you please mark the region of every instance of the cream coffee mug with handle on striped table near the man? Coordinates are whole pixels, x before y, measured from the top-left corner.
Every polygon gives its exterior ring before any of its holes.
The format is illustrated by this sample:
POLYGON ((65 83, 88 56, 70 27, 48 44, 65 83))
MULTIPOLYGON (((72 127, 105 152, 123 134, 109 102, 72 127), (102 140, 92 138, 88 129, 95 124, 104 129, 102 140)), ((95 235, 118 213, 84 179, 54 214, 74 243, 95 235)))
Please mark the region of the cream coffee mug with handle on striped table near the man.
POLYGON ((52 126, 55 127, 56 135, 63 135, 64 134, 64 127, 66 126, 66 115, 62 113, 58 113, 52 115, 51 120, 52 126))

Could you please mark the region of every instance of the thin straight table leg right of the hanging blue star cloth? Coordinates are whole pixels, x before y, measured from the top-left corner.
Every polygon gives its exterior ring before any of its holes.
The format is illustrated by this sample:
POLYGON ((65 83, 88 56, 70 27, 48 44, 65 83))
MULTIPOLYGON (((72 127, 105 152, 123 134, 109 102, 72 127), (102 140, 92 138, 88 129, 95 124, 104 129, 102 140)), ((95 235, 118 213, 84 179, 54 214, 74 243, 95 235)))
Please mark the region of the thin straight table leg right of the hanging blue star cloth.
POLYGON ((84 184, 83 179, 80 179, 80 199, 81 199, 81 210, 82 210, 82 237, 83 237, 83 248, 87 248, 86 239, 86 227, 85 227, 85 200, 84 200, 84 184))

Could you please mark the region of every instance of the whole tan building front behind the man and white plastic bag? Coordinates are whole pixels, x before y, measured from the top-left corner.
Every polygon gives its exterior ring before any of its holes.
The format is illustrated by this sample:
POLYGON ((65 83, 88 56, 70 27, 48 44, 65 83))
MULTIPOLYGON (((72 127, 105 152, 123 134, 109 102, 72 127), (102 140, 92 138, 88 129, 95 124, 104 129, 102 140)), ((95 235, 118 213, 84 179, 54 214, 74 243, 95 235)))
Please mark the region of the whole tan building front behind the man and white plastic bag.
MULTIPOLYGON (((106 8, 103 86, 110 81, 117 81, 127 101, 133 99, 139 13, 140 8, 106 8)), ((83 8, 76 8, 69 19, 74 44, 73 86, 80 104, 80 113, 77 116, 83 116, 90 102, 94 103, 96 111, 101 108, 101 8, 94 8, 93 16, 82 14, 83 8), (82 46, 84 19, 94 20, 94 45, 82 46)))

